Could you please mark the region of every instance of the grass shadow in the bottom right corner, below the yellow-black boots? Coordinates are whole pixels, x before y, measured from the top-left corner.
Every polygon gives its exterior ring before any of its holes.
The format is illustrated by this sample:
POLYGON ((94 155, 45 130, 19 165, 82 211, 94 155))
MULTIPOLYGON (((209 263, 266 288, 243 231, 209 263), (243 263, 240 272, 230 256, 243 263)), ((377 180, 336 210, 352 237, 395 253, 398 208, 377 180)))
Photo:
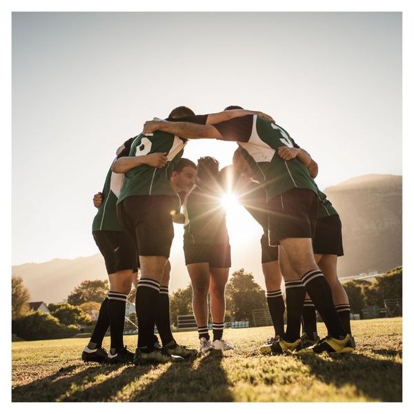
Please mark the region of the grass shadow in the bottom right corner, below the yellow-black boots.
POLYGON ((399 362, 357 353, 332 355, 330 360, 317 355, 298 358, 311 368, 311 374, 326 384, 355 386, 359 393, 370 400, 402 402, 402 364, 399 362))

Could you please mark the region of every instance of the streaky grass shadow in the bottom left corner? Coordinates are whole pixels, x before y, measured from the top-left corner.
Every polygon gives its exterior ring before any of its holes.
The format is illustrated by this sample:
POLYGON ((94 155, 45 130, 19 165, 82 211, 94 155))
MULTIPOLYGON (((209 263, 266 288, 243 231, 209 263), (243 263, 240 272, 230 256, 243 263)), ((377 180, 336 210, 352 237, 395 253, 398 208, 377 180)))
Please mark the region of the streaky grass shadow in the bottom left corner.
POLYGON ((83 385, 95 382, 99 375, 110 375, 123 366, 108 364, 77 364, 60 368, 57 373, 34 380, 30 384, 16 386, 12 389, 12 402, 55 402, 55 401, 106 401, 117 391, 136 377, 144 375, 146 369, 137 370, 135 367, 126 368, 123 375, 109 378, 104 382, 89 386, 83 385), (82 369, 83 368, 83 369, 82 369), (80 372, 73 371, 81 369, 80 372), (129 375, 124 375, 128 371, 129 375))

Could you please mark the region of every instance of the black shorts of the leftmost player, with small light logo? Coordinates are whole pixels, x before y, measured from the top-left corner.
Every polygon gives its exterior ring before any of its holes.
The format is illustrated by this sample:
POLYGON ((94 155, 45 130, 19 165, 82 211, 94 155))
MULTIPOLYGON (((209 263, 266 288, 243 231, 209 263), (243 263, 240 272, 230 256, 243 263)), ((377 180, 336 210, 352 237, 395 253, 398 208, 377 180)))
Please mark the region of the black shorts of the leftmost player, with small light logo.
POLYGON ((137 249, 123 231, 97 230, 92 232, 95 243, 105 259, 108 275, 121 270, 132 269, 137 272, 137 249))

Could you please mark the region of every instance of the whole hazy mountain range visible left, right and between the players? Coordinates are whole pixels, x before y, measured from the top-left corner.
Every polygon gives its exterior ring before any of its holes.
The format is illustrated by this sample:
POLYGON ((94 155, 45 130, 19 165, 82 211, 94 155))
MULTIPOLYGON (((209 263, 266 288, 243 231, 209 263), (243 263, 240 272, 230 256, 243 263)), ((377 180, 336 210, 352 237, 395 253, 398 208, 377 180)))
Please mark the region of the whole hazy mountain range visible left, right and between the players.
MULTIPOLYGON (((377 271, 402 265, 402 177, 364 175, 324 190, 342 220, 344 257, 338 259, 339 277, 377 271)), ((246 213, 246 219, 250 219, 246 213)), ((230 232, 229 232, 230 233, 230 232)), ((262 287, 260 230, 237 240, 230 233, 232 268, 252 272, 262 287)), ((175 226, 172 245, 170 292, 188 285, 182 253, 182 228, 175 226)), ((77 259, 53 259, 40 264, 12 266, 12 275, 23 278, 30 300, 61 302, 86 279, 107 279, 100 253, 77 259)))

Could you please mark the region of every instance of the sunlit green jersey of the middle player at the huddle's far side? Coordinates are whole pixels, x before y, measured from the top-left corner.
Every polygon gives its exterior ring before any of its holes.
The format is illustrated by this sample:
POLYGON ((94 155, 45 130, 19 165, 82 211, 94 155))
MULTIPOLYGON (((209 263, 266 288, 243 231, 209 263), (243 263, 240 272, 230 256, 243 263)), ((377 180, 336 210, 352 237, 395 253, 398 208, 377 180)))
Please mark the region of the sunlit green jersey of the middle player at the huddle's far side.
POLYGON ((219 195, 195 186, 183 204, 184 244, 228 243, 226 210, 219 195))

